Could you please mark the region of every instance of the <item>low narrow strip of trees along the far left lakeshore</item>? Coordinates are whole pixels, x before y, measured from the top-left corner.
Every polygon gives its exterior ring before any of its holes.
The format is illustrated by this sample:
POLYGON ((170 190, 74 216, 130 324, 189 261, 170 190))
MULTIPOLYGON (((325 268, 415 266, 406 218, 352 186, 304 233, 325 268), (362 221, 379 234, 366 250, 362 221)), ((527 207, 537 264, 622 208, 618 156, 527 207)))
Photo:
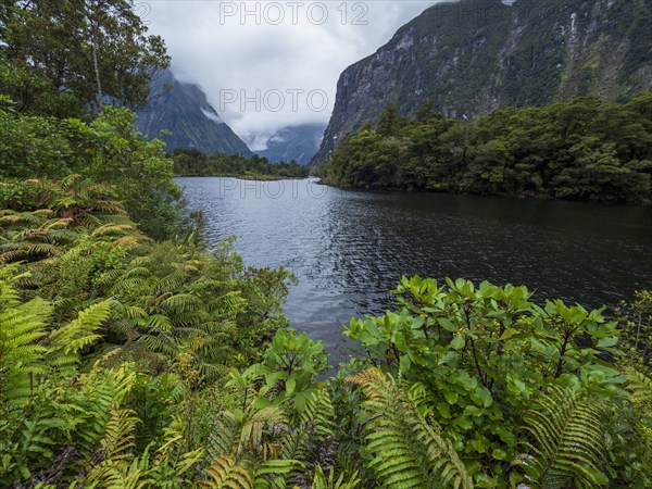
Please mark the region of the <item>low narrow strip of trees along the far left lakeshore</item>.
POLYGON ((242 178, 305 178, 310 171, 294 161, 271 163, 266 158, 253 154, 212 153, 198 149, 176 149, 172 155, 174 172, 179 176, 228 176, 242 178))

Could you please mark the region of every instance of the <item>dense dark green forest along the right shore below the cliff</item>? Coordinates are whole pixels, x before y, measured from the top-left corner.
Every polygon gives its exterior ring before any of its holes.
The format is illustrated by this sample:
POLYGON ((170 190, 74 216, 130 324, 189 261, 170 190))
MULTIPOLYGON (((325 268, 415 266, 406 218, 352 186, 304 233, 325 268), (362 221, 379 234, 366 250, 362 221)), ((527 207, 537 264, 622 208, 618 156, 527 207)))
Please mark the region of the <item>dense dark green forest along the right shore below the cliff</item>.
POLYGON ((494 110, 474 122, 388 105, 318 168, 343 187, 641 202, 652 199, 652 92, 494 110))

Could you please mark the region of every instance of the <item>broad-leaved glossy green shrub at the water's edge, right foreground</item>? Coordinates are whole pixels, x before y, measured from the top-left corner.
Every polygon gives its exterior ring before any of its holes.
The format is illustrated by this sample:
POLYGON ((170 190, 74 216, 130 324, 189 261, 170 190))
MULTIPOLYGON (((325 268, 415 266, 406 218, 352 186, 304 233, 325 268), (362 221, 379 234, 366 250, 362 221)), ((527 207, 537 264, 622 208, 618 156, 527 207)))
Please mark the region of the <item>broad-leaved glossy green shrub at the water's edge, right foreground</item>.
MULTIPOLYGON (((398 310, 351 319, 346 328, 361 347, 353 365, 379 367, 417 392, 421 410, 478 484, 523 480, 513 462, 523 450, 524 412, 543 405, 537 403, 547 390, 581 391, 585 404, 627 402, 626 377, 614 364, 623 355, 617 325, 602 310, 559 300, 539 306, 525 287, 476 288, 462 279, 439 285, 403 277, 393 293, 398 310)), ((602 443, 606 429, 589 435, 602 443)), ((606 448, 599 453, 604 456, 606 448)), ((584 480, 605 480, 605 467, 603 457, 584 480)))

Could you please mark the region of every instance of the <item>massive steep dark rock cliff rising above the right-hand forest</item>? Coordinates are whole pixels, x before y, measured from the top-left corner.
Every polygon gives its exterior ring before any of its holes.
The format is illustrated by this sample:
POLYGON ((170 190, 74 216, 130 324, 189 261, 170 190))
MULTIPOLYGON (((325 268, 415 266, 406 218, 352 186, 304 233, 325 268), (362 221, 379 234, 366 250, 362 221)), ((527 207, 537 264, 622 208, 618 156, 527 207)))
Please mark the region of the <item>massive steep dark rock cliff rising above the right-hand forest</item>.
POLYGON ((436 4, 341 74, 313 162, 389 102, 413 114, 430 99, 446 116, 474 118, 580 95, 627 100, 652 88, 651 33, 650 0, 436 4))

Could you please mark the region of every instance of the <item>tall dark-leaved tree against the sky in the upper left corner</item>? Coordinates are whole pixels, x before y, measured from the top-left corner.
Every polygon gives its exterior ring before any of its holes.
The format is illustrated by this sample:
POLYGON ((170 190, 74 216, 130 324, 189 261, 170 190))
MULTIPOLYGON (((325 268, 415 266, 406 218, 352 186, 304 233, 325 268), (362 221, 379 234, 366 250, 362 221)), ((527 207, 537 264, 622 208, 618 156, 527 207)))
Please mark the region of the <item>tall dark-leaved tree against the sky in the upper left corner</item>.
POLYGON ((0 61, 0 89, 18 111, 71 115, 106 102, 143 105, 170 58, 130 0, 7 0, 0 61))

